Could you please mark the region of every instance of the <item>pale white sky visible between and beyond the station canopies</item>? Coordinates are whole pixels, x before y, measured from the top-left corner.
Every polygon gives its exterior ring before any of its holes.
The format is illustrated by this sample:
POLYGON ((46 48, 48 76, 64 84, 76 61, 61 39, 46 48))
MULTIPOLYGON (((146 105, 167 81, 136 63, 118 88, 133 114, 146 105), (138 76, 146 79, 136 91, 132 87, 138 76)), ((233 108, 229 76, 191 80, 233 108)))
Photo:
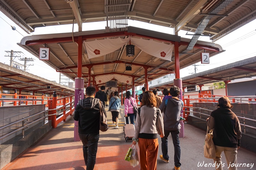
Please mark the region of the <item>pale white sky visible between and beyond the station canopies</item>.
MULTIPOLYGON (((35 28, 35 32, 32 34, 27 34, 24 32, 18 25, 16 25, 12 20, 6 17, 0 11, 0 62, 10 65, 10 57, 6 57, 4 55, 8 55, 5 51, 21 51, 23 54, 21 58, 28 57, 33 58, 33 62, 29 62, 28 64, 34 64, 34 66, 28 66, 28 72, 39 77, 56 81, 59 83, 60 73, 56 72, 56 70, 52 69, 50 66, 45 64, 43 61, 40 61, 37 57, 27 52, 25 49, 19 47, 17 45, 18 42, 24 37, 29 35, 36 34, 47 34, 47 33, 68 33, 72 32, 72 25, 61 25, 61 26, 47 26, 47 27, 38 27, 35 28), (13 31, 11 26, 15 26, 16 30, 13 31)), ((95 30, 95 29, 105 29, 106 21, 104 22, 94 22, 94 23, 84 23, 83 31, 87 30, 95 30)), ((173 29, 164 26, 156 26, 149 23, 142 23, 140 21, 132 21, 128 20, 128 26, 136 26, 145 29, 150 29, 163 33, 173 34, 173 29)), ((78 31, 78 27, 75 24, 74 32, 78 31)), ((192 36, 185 35, 187 31, 180 31, 179 36, 191 39, 192 36)), ((189 33, 189 32, 188 32, 189 33)), ((200 41, 208 41, 211 42, 209 37, 200 37, 200 41)), ((243 60, 246 58, 250 58, 256 56, 256 48, 255 48, 255 40, 256 40, 256 20, 251 21, 250 23, 242 26, 241 28, 229 33, 218 41, 214 43, 222 46, 224 50, 223 53, 210 57, 210 64, 201 64, 201 62, 196 63, 196 73, 202 72, 205 70, 213 69, 216 67, 220 67, 222 65, 226 65, 229 63, 234 63, 239 60, 243 60)), ((18 57, 15 61, 24 64, 23 61, 19 61, 18 57)), ((189 66, 187 68, 180 70, 180 78, 191 75, 195 73, 194 66, 189 66)), ((62 77, 62 82, 68 80, 64 80, 66 77, 62 77)))

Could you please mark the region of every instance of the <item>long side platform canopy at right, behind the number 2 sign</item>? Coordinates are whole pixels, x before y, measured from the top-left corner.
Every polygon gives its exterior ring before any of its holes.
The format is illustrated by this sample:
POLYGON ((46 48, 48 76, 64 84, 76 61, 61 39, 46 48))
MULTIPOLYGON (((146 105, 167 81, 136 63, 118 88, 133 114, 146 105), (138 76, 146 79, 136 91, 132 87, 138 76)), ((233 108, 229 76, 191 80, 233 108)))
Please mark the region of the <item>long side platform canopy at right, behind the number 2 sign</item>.
MULTIPOLYGON (((182 87, 191 85, 204 85, 208 83, 230 81, 240 78, 252 78, 256 76, 256 56, 235 63, 223 65, 211 70, 206 70, 182 79, 182 87)), ((173 80, 158 85, 150 86, 149 89, 169 88, 173 86, 173 80)))

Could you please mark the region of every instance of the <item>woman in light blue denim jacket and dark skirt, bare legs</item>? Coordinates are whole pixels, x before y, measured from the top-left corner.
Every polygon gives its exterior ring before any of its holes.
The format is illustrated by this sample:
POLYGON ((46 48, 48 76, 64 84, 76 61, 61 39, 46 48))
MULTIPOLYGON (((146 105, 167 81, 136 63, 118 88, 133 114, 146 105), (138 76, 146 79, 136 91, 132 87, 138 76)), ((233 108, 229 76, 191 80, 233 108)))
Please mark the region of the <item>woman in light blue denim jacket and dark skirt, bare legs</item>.
POLYGON ((119 99, 118 92, 114 92, 114 96, 110 99, 109 106, 108 111, 111 111, 112 114, 112 125, 115 126, 116 122, 116 129, 118 129, 118 116, 121 106, 121 100, 119 99))

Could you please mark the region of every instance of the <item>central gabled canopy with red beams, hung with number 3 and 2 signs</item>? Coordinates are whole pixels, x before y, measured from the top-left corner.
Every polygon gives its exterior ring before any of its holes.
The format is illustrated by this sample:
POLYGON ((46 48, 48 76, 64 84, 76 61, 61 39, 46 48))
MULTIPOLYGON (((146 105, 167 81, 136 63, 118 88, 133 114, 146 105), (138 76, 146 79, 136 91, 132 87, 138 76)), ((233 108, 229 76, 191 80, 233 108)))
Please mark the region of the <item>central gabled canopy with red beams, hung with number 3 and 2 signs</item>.
MULTIPOLYGON (((74 79, 77 77, 78 47, 73 39, 77 41, 79 36, 83 40, 82 77, 85 78, 84 83, 88 83, 89 67, 92 77, 118 74, 134 77, 135 85, 145 83, 145 68, 148 71, 149 80, 174 73, 174 45, 172 43, 175 41, 179 42, 180 69, 198 63, 202 52, 209 53, 211 57, 224 51, 218 44, 197 41, 192 50, 181 53, 187 48, 190 39, 132 26, 128 26, 127 31, 114 33, 106 33, 105 30, 75 32, 73 37, 72 33, 31 35, 24 37, 18 45, 38 58, 39 48, 50 48, 49 60, 43 61, 57 72, 74 79), (134 56, 126 55, 126 45, 130 42, 135 45, 134 56), (97 53, 97 50, 100 52, 97 53), (166 56, 161 56, 162 52, 165 52, 166 56), (132 69, 127 70, 126 67, 132 67, 132 69)), ((126 83, 131 85, 131 81, 123 82, 123 84, 126 83)), ((99 85, 100 82, 96 84, 99 85)))

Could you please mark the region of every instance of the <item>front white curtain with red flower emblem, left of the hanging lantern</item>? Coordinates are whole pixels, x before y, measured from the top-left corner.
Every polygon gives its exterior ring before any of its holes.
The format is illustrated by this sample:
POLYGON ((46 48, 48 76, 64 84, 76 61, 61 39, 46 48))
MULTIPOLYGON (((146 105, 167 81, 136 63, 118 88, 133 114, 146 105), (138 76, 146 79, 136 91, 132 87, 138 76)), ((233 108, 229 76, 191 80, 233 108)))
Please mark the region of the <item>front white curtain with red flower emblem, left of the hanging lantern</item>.
POLYGON ((94 58, 99 57, 102 55, 109 54, 117 49, 121 48, 126 44, 130 39, 122 39, 122 38, 115 38, 115 39, 104 39, 104 40, 95 40, 95 41, 88 41, 84 42, 86 51, 88 53, 88 57, 94 58))

